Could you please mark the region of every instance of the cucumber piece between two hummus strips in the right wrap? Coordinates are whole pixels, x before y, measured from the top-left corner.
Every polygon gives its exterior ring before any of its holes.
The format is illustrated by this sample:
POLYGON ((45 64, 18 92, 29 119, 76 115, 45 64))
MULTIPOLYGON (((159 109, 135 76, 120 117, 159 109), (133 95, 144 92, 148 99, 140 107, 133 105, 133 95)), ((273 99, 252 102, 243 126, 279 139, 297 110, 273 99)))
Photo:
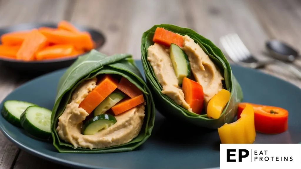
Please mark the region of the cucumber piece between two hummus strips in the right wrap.
POLYGON ((179 85, 182 84, 183 78, 190 76, 190 64, 186 53, 175 44, 171 44, 169 48, 170 59, 175 75, 179 80, 179 85))

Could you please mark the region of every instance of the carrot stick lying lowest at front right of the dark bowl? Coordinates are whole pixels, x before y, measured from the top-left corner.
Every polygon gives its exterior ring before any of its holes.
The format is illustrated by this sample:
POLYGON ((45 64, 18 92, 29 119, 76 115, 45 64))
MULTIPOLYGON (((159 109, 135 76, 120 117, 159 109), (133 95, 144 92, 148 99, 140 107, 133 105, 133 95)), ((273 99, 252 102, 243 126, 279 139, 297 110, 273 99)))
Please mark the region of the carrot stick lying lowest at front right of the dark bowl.
POLYGON ((43 48, 36 54, 37 60, 54 59, 64 56, 72 56, 75 51, 73 45, 53 45, 43 48))

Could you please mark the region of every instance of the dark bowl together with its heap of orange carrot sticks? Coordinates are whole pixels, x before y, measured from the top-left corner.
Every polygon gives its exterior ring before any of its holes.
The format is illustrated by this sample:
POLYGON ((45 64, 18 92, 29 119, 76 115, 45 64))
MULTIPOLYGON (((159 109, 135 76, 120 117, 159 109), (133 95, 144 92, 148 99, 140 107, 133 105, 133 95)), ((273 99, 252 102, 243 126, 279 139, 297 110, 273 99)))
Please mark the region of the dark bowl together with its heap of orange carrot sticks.
POLYGON ((100 31, 65 20, 14 25, 0 29, 0 62, 15 70, 49 72, 70 66, 104 42, 100 31))

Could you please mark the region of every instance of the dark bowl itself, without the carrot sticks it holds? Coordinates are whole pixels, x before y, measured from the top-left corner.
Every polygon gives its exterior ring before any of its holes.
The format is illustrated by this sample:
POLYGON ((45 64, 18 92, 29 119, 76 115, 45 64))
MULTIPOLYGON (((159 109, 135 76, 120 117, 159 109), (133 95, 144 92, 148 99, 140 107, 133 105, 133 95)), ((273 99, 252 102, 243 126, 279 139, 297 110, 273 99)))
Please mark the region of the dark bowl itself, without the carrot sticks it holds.
MULTIPOLYGON (((89 32, 92 36, 93 41, 95 42, 95 49, 99 49, 105 43, 105 37, 103 33, 98 30, 88 28, 86 26, 78 25, 72 23, 76 28, 80 31, 89 32)), ((57 23, 23 23, 13 26, 8 26, 5 28, 0 29, 0 36, 13 31, 20 31, 20 30, 30 30, 33 28, 39 28, 42 26, 57 28, 57 23)), ((86 52, 87 53, 87 52, 86 52)), ((84 54, 86 54, 84 53, 84 54)), ((80 55, 84 55, 80 54, 80 55)), ((0 57, 1 66, 7 66, 9 68, 13 68, 17 71, 26 71, 26 72, 51 72, 57 69, 65 68, 70 66, 80 55, 70 56, 70 57, 63 57, 53 60, 42 60, 42 61, 22 61, 22 60, 14 60, 8 59, 4 57, 0 57)))

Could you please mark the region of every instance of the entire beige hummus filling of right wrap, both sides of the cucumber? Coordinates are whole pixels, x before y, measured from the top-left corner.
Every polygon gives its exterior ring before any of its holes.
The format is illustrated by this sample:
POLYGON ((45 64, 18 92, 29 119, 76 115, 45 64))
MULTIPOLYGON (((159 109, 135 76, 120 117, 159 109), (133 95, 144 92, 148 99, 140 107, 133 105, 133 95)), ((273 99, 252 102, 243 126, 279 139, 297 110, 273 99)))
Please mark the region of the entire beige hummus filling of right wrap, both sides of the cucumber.
MULTIPOLYGON (((203 87, 204 105, 222 90, 223 77, 215 64, 203 49, 188 35, 183 36, 183 50, 188 55, 191 72, 195 80, 203 87)), ((172 67, 169 50, 164 45, 154 43, 147 49, 147 60, 153 67, 155 76, 161 84, 163 94, 174 100, 178 105, 192 112, 191 107, 185 101, 184 93, 178 85, 178 79, 172 67)))

